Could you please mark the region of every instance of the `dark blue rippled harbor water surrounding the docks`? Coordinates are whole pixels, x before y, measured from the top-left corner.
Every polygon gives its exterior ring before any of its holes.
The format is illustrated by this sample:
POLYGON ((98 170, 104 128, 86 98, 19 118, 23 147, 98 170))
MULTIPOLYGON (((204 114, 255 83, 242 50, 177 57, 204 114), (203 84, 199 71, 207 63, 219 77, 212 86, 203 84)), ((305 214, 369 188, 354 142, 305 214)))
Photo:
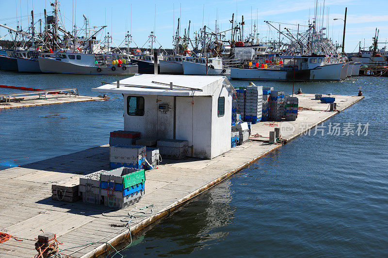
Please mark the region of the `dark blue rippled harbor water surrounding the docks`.
MULTIPOLYGON (((125 76, 124 76, 125 77, 125 76)), ((118 76, 31 75, 0 71, 0 84, 77 87, 82 95, 118 76)), ((235 87, 248 81, 231 80, 235 87)), ((255 82, 292 92, 292 83, 255 82)), ((301 136, 194 198, 134 236, 125 257, 383 257, 388 252, 388 79, 295 83, 305 93, 365 99, 325 121, 354 123, 354 135, 324 128, 301 136), (368 134, 357 135, 357 124, 368 134)), ((0 92, 16 91, 0 88, 0 92)), ((123 128, 122 96, 108 101, 0 110, 0 169, 107 144, 123 128)), ((340 103, 339 103, 340 104, 340 103)), ((1 173, 1 171, 0 171, 1 173)), ((123 244, 125 247, 126 244, 123 244)))

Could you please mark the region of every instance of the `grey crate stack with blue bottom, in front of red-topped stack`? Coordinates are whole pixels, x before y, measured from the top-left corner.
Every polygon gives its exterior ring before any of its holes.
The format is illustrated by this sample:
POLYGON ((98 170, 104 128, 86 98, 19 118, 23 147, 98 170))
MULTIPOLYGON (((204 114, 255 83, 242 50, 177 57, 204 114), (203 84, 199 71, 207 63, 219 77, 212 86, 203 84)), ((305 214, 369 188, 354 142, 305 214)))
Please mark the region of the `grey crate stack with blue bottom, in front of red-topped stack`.
POLYGON ((146 164, 146 146, 114 145, 109 148, 110 167, 144 168, 146 164))

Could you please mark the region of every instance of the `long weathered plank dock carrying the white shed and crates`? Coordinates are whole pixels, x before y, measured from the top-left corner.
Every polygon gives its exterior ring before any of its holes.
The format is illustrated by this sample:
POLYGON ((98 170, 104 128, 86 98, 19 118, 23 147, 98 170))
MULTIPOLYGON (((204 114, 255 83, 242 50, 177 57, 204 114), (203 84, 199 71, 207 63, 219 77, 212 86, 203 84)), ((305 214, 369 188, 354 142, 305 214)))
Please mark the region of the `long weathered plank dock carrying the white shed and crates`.
MULTIPOLYGON (((363 98, 338 95, 334 97, 338 103, 338 111, 363 98)), ((305 109, 299 111, 297 121, 260 122, 252 125, 252 134, 259 134, 265 139, 264 137, 269 136, 269 131, 284 123, 294 128, 293 132, 282 137, 290 140, 338 114, 337 111, 324 111, 329 104, 313 100, 312 94, 301 94, 298 98, 299 106, 305 109)), ((151 216, 129 224, 131 233, 135 234, 147 225, 171 214, 187 200, 281 146, 252 140, 211 160, 194 158, 168 160, 158 169, 146 171, 146 194, 136 206, 137 210, 149 205, 155 207, 151 216)), ((109 245, 102 242, 109 242, 115 246, 129 238, 129 229, 120 219, 132 208, 110 213, 122 217, 106 217, 102 212, 109 210, 108 207, 83 204, 82 201, 66 203, 51 199, 53 182, 77 179, 101 169, 110 169, 109 145, 1 170, 0 232, 11 234, 23 242, 10 239, 0 243, 0 258, 31 258, 36 255, 34 238, 42 232, 41 229, 55 233, 57 239, 63 243, 60 245, 61 249, 99 242, 63 251, 61 252, 64 254, 63 257, 66 255, 77 258, 96 257, 109 249, 109 245)))

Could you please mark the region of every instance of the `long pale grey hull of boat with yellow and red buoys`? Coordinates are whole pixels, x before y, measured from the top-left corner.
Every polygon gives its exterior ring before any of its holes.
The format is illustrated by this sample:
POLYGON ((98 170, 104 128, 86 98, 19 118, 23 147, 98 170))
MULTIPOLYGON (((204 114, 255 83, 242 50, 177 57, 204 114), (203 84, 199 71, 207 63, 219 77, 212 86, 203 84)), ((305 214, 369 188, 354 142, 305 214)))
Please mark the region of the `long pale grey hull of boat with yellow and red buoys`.
POLYGON ((138 73, 137 65, 114 66, 84 66, 69 62, 58 61, 51 58, 38 57, 39 67, 43 73, 83 74, 83 75, 134 75, 138 73), (124 70, 123 67, 127 69, 124 70), (98 71, 98 68, 101 71, 98 71))

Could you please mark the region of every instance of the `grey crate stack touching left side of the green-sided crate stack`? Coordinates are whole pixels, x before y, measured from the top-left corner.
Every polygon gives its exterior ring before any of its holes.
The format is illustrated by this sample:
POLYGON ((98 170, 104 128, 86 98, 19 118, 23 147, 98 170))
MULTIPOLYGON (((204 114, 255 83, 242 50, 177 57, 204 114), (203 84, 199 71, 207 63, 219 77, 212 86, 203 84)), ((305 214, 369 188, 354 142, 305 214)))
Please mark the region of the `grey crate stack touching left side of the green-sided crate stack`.
POLYGON ((78 190, 84 203, 101 204, 100 176, 106 172, 106 170, 100 170, 80 177, 78 190))

